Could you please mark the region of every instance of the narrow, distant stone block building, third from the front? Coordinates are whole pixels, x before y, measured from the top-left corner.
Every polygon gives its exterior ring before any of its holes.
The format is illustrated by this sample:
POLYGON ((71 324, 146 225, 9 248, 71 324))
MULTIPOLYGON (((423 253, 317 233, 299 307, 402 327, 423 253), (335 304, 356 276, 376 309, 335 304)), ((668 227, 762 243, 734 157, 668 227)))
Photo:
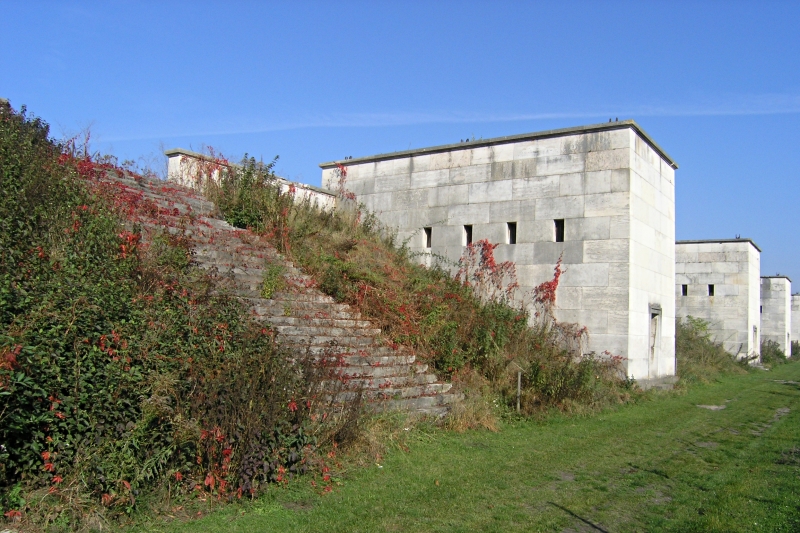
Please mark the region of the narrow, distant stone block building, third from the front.
POLYGON ((788 276, 761 277, 761 339, 774 341, 792 355, 792 280, 788 276))

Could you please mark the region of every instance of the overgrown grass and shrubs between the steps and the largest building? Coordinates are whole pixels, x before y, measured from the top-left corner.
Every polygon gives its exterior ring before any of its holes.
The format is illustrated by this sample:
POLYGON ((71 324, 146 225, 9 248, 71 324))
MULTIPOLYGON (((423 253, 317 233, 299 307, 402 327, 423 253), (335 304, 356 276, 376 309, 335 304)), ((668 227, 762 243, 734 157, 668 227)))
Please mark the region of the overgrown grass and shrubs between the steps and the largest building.
POLYGON ((487 241, 469 246, 459 265, 440 261, 426 268, 355 205, 344 167, 340 208, 325 211, 300 201, 293 187, 282 190, 273 165, 210 158, 199 169, 198 184, 229 223, 267 235, 321 290, 357 307, 390 342, 413 348, 441 376, 512 407, 521 372, 526 414, 594 409, 629 397, 632 384, 621 358, 581 357, 586 330, 554 320, 560 263, 553 279, 530 295, 519 294, 514 265, 496 263, 496 245, 487 241), (458 269, 455 279, 451 267, 458 269), (533 320, 529 302, 537 310, 533 320))

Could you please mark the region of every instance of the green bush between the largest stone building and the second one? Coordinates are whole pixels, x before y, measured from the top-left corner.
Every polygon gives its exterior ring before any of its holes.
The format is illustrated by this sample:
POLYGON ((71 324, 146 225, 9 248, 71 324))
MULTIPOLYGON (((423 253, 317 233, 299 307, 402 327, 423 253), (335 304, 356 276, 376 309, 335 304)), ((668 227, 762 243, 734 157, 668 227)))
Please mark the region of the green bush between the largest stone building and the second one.
POLYGON ((746 372, 749 359, 737 360, 715 342, 708 322, 686 317, 675 323, 675 358, 683 384, 707 383, 721 374, 746 372))

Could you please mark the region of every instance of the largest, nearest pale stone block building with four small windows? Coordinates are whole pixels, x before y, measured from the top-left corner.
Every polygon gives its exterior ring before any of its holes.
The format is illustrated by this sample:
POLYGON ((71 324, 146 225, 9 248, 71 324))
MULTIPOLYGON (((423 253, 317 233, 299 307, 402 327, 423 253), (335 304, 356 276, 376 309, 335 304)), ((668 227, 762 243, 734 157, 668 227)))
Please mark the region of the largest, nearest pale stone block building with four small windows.
POLYGON ((634 121, 610 122, 323 163, 412 251, 455 262, 500 243, 520 285, 565 272, 557 318, 588 349, 627 358, 639 382, 675 374, 675 162, 634 121))

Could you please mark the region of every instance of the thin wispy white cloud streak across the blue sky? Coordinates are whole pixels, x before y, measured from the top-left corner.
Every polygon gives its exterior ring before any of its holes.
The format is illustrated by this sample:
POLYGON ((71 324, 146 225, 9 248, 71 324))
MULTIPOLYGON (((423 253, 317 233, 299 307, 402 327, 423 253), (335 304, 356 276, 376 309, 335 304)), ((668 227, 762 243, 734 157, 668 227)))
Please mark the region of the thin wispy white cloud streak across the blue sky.
POLYGON ((423 124, 478 124, 487 122, 523 122, 554 119, 586 119, 606 117, 712 117, 748 115, 786 115, 800 113, 800 95, 764 94, 733 96, 724 101, 710 101, 682 105, 639 105, 618 107, 602 111, 571 111, 550 113, 463 113, 463 112, 407 112, 407 113, 339 113, 304 117, 294 121, 270 125, 252 125, 239 128, 209 129, 199 132, 172 132, 160 135, 111 137, 106 142, 141 141, 158 138, 210 137, 245 135, 313 128, 374 128, 387 126, 413 126, 423 124))

